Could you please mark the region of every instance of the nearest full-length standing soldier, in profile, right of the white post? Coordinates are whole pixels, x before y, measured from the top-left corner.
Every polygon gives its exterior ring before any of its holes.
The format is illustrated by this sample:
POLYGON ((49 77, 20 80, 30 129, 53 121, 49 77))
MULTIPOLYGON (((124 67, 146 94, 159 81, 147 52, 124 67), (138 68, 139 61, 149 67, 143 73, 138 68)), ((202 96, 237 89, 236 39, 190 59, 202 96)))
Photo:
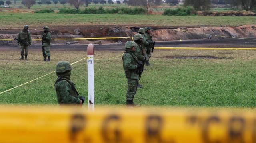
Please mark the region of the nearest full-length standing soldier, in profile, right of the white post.
POLYGON ((137 69, 142 66, 137 63, 135 47, 136 43, 134 41, 127 41, 122 57, 125 75, 128 80, 128 90, 126 93, 126 105, 128 106, 134 106, 133 98, 137 92, 137 81, 139 80, 137 69))

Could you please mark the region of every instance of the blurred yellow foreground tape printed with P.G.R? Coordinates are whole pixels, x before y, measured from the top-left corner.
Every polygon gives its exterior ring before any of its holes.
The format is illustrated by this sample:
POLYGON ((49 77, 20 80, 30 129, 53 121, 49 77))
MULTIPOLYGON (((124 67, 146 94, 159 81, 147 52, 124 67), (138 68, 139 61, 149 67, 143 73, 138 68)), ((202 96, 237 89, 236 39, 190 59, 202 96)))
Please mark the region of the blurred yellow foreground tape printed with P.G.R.
POLYGON ((1 143, 255 143, 252 110, 0 108, 1 143))

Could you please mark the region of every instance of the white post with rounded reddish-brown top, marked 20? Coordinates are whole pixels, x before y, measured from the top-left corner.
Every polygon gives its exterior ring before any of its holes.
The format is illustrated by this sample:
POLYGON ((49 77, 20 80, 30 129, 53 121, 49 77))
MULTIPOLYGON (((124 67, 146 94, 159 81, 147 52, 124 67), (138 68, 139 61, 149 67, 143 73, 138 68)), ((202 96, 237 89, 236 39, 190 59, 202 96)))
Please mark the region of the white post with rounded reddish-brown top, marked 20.
POLYGON ((87 74, 88 74, 88 109, 94 110, 94 46, 87 46, 87 74))

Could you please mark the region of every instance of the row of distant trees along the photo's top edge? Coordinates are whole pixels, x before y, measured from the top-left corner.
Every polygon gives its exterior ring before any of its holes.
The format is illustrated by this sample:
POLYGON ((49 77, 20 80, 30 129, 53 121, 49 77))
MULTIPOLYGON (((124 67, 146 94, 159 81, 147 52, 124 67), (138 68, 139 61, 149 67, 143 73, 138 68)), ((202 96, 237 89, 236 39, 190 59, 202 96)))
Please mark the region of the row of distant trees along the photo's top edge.
MULTIPOLYGON (((79 6, 85 4, 88 7, 88 4, 114 4, 112 0, 53 0, 55 5, 66 4, 69 3, 74 5, 76 9, 79 9, 79 6)), ((37 4, 52 4, 50 0, 41 0, 37 2, 37 4)), ((12 4, 10 0, 5 2, 7 5, 12 4)), ((14 0, 14 4, 16 0, 14 0)), ((121 4, 121 1, 116 1, 117 4, 121 4)), ((150 7, 152 5, 160 5, 162 4, 162 0, 124 0, 124 4, 128 4, 130 6, 142 6, 142 7, 150 7)), ((166 3, 170 5, 176 5, 179 3, 178 0, 166 0, 166 3)), ((36 4, 36 0, 22 0, 22 4, 30 9, 31 6, 36 4)), ((212 4, 230 4, 233 8, 241 8, 243 10, 255 10, 256 9, 256 0, 185 0, 184 6, 192 6, 195 10, 210 10, 212 4)), ((4 1, 0 0, 0 5, 4 5, 4 1)))

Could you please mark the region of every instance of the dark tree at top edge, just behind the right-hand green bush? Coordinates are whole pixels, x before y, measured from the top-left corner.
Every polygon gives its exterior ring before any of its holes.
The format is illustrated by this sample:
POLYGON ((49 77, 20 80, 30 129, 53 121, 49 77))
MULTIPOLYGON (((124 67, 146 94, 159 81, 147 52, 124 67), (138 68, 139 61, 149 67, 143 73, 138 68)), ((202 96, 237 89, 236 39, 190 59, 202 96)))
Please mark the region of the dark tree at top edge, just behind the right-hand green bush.
POLYGON ((210 0, 185 0, 184 6, 193 6, 195 10, 209 10, 210 0))

